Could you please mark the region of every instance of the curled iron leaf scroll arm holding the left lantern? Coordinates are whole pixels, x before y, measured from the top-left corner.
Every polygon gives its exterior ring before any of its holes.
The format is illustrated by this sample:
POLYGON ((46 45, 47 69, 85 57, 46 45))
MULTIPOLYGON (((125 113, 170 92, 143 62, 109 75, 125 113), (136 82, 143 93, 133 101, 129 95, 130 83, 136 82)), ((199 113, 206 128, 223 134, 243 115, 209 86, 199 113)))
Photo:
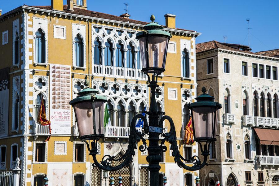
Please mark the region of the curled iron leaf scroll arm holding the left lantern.
POLYGON ((139 150, 140 151, 144 151, 145 149, 147 149, 147 144, 146 144, 146 140, 143 138, 145 133, 141 133, 139 131, 136 130, 135 125, 137 123, 137 119, 142 119, 144 122, 144 127, 148 126, 147 120, 146 118, 141 115, 135 115, 135 117, 132 119, 131 125, 130 125, 130 135, 129 135, 129 142, 128 142, 128 149, 126 151, 126 153, 121 157, 116 159, 114 156, 110 156, 110 155, 105 155, 101 162, 98 162, 96 155, 98 154, 98 149, 97 149, 97 142, 100 139, 94 139, 93 141, 91 141, 91 148, 90 145, 87 141, 86 145, 87 145, 87 149, 89 150, 89 154, 93 157, 93 166, 94 167, 99 167, 100 169, 106 170, 106 171, 117 171, 119 169, 122 169, 126 166, 128 166, 132 160, 133 160, 133 156, 135 156, 135 149, 137 149, 137 144, 139 143, 139 141, 141 140, 143 142, 143 145, 139 146, 139 150), (111 166, 111 163, 113 161, 122 161, 124 160, 120 165, 118 166, 111 166))

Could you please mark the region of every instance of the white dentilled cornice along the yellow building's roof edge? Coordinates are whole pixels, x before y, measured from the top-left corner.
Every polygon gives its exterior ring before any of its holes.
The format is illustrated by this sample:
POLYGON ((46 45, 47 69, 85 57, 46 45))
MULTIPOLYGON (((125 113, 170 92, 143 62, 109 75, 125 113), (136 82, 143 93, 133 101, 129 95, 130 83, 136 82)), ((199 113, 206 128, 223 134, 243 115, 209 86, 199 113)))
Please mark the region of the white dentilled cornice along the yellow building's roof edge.
MULTIPOLYGON (((73 13, 67 13, 64 11, 56 11, 56 10, 47 10, 47 9, 41 9, 37 7, 31 7, 31 6, 19 6, 18 8, 15 8, 12 11, 9 11, 2 16, 0 16, 0 22, 2 22, 5 19, 9 19, 11 17, 17 14, 20 14, 21 12, 27 12, 30 13, 31 11, 34 11, 35 14, 38 14, 40 12, 40 15, 47 14, 48 16, 52 15, 54 17, 59 16, 61 18, 67 18, 69 17, 70 19, 73 20, 84 20, 84 21, 91 21, 92 23, 95 21, 95 23, 101 23, 101 24, 106 24, 106 25, 116 25, 120 27, 125 27, 125 28, 132 28, 132 29, 138 29, 138 30, 143 30, 143 24, 136 24, 136 23, 128 23, 128 22, 123 22, 123 21, 117 21, 117 20, 112 20, 112 19, 103 19, 103 18, 97 18, 97 17, 91 17, 91 16, 86 16, 86 15, 78 15, 78 14, 73 14, 73 13)), ((165 27, 163 30, 170 32, 173 35, 180 35, 180 36, 185 36, 185 37, 198 37, 201 35, 201 33, 196 32, 196 31, 187 31, 187 30, 180 30, 180 29, 175 29, 175 28, 167 28, 165 27)))

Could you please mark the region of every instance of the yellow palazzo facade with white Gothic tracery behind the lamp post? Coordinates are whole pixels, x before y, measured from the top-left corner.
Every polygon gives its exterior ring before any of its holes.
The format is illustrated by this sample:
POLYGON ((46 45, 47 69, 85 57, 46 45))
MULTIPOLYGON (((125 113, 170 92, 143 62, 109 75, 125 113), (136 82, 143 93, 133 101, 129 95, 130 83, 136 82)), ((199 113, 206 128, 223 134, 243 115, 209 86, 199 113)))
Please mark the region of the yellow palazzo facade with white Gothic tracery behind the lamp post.
MULTIPOLYGON (((0 16, 1 170, 13 168, 19 157, 22 186, 42 185, 45 174, 49 185, 108 184, 79 139, 69 101, 88 79, 90 87, 108 97, 111 126, 105 127, 99 141, 99 161, 106 154, 120 157, 126 151, 131 119, 145 107, 148 110, 150 97, 135 39, 147 23, 129 16, 89 11, 86 0, 68 0, 64 6, 61 0, 52 0, 51 6, 24 5, 0 16), (49 126, 36 121, 42 97, 51 134, 49 126)), ((180 153, 188 159, 198 153, 195 143, 183 144, 182 123, 189 118, 186 104, 196 97, 195 38, 200 33, 175 28, 175 15, 165 17, 164 30, 173 37, 156 101, 174 120, 180 153)), ((169 123, 164 125, 167 132, 169 123)), ((160 179, 166 174, 167 185, 193 185, 197 172, 180 169, 170 145, 165 145, 160 179)), ((109 175, 116 180, 121 175, 125 186, 147 186, 147 155, 136 150, 129 167, 109 175)))

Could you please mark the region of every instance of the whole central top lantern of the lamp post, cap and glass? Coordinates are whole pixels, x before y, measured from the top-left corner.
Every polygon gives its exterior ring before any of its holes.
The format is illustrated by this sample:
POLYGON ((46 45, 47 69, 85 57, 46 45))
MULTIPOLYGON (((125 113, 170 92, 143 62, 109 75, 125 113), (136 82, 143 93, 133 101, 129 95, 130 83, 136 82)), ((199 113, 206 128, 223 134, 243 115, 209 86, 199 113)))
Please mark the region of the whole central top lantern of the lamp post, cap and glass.
POLYGON ((150 19, 152 22, 145 25, 144 31, 138 32, 136 38, 139 40, 142 71, 160 74, 165 71, 166 53, 172 36, 162 30, 164 27, 154 22, 154 15, 150 19))

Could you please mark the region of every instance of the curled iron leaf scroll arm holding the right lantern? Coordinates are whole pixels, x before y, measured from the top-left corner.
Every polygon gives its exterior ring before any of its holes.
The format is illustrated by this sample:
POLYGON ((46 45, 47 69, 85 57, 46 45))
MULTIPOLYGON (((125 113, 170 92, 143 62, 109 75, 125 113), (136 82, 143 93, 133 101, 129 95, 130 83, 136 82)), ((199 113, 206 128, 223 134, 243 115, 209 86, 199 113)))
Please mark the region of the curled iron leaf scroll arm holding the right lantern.
MULTIPOLYGON (((197 171, 197 170, 201 169, 202 167, 204 167, 205 165, 208 165, 206 163, 206 161, 207 161, 207 156, 209 155, 209 144, 210 144, 210 142, 206 143, 204 145, 204 150, 202 150, 201 155, 204 156, 203 162, 201 163, 200 158, 195 155, 191 158, 191 162, 193 163, 193 166, 189 167, 189 166, 184 164, 183 161, 185 161, 185 159, 179 153, 179 149, 178 149, 178 146, 177 146, 177 140, 176 140, 175 125, 173 123, 173 120, 170 118, 170 116, 165 115, 160 119, 159 125, 162 125, 164 120, 169 121, 170 132, 167 132, 167 133, 163 134, 164 139, 162 139, 162 141, 161 141, 161 149, 162 150, 166 149, 166 146, 163 146, 165 141, 168 141, 170 143, 170 150, 172 150, 171 155, 174 157, 174 161, 175 161, 175 163, 177 163, 178 167, 184 168, 184 169, 189 170, 189 171, 197 171)), ((200 146, 202 146, 200 142, 198 142, 198 143, 200 144, 200 146)))

